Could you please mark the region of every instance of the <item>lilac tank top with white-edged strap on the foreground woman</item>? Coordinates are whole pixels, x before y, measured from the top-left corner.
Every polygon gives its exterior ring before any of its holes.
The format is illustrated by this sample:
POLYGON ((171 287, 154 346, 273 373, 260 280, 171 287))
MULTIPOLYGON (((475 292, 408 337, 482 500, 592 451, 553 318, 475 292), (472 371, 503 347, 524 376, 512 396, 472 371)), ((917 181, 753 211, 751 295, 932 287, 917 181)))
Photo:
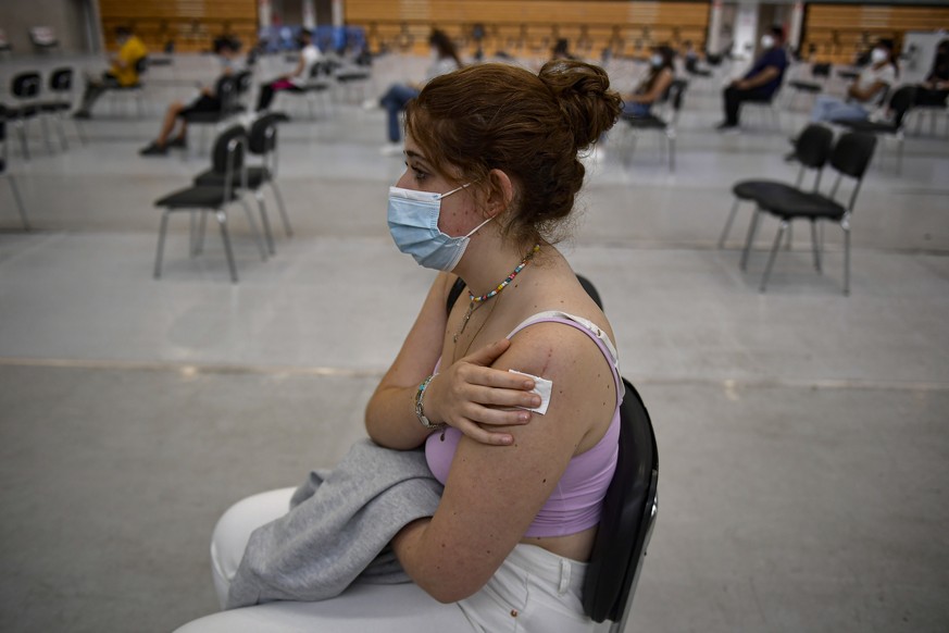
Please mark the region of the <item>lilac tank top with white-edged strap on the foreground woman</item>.
MULTIPOLYGON (((596 342, 600 351, 610 361, 613 371, 613 380, 616 382, 616 409, 613 411, 613 420, 607 433, 596 446, 570 460, 557 487, 537 512, 525 536, 565 536, 597 525, 600 522, 603 497, 616 470, 616 457, 620 450, 620 404, 623 401, 623 382, 620 378, 616 350, 605 332, 582 316, 574 316, 566 312, 541 312, 517 325, 508 338, 528 325, 551 322, 576 327, 596 342)), ((437 367, 435 371, 438 372, 437 367)), ((542 418, 536 419, 533 423, 542 423, 542 418)), ((448 471, 451 469, 451 461, 454 459, 461 437, 460 431, 448 427, 445 431, 444 442, 440 433, 433 433, 425 442, 428 468, 442 484, 448 481, 448 471)))

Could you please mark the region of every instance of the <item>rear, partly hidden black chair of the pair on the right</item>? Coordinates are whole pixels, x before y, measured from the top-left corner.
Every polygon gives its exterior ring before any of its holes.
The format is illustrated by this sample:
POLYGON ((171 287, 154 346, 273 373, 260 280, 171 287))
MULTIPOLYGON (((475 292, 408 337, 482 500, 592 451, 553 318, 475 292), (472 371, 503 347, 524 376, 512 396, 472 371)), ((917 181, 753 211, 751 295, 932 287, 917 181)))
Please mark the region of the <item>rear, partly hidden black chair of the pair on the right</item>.
MULTIPOLYGON (((809 170, 813 170, 814 187, 816 191, 821 186, 821 173, 824 165, 827 164, 827 159, 831 156, 831 147, 834 144, 834 133, 831 128, 823 125, 811 124, 807 126, 795 141, 795 160, 801 167, 798 171, 798 177, 794 185, 788 185, 778 181, 739 181, 732 187, 732 193, 735 195, 735 203, 732 204, 732 211, 728 213, 728 219, 725 221, 725 226, 722 228, 722 235, 719 237, 719 248, 725 247, 725 240, 728 238, 728 233, 732 231, 732 223, 735 221, 735 214, 738 212, 738 206, 742 201, 758 202, 760 198, 769 198, 779 196, 787 191, 794 191, 801 188, 804 179, 804 174, 809 170)), ((788 240, 790 245, 790 240, 788 240)), ((745 265, 744 263, 741 264, 745 265)))

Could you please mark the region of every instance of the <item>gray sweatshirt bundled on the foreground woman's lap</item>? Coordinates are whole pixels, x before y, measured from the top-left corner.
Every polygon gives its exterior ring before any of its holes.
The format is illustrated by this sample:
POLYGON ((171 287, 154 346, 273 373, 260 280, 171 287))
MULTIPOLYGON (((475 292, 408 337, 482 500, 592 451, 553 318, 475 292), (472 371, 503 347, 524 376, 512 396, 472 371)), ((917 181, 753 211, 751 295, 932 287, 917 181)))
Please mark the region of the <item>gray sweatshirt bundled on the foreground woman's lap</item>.
POLYGON ((354 581, 409 582, 388 544, 435 513, 441 489, 422 450, 358 442, 335 469, 310 473, 289 512, 251 534, 227 608, 325 600, 354 581))

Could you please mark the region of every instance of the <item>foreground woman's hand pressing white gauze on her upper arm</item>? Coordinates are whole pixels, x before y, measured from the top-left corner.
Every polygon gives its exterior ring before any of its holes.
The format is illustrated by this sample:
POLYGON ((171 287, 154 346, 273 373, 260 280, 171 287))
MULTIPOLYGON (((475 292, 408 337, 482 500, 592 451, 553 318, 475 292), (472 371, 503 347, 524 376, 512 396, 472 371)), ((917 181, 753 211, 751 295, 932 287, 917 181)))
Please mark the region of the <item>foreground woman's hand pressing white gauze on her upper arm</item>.
POLYGON ((540 396, 532 393, 533 380, 490 367, 510 346, 507 338, 497 340, 433 377, 425 393, 426 414, 480 444, 511 444, 510 433, 490 427, 527 424, 530 411, 515 407, 539 407, 540 396))

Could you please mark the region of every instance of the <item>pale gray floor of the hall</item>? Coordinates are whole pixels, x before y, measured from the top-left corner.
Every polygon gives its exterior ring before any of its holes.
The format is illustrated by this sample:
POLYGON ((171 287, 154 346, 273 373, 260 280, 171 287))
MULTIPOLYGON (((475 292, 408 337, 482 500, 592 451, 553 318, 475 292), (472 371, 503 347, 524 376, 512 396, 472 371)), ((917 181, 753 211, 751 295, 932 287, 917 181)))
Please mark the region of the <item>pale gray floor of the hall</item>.
MULTIPOLYGON (((415 66, 384 60, 375 89, 415 66)), ((190 259, 173 218, 153 281, 152 201, 205 159, 136 150, 202 73, 188 60, 157 78, 145 119, 103 108, 85 147, 71 127, 52 156, 34 131, 28 163, 11 144, 35 231, 0 183, 3 631, 168 631, 214 610, 214 521, 363 435, 432 278, 391 245, 401 162, 378 156, 383 115, 353 96, 316 121, 283 101, 300 114, 280 129, 297 235, 277 232, 276 257, 262 262, 233 213, 234 286, 216 233, 190 259)), ((819 276, 803 226, 761 295, 764 253, 737 265, 750 209, 728 249, 715 241, 736 179, 792 178, 782 156, 803 100, 781 132, 749 112, 722 137, 717 99, 708 84, 687 96, 675 174, 655 139, 624 162, 628 138, 611 134, 563 245, 658 433, 659 521, 628 631, 946 631, 949 141, 910 136, 902 176, 883 148, 853 220, 851 297, 839 232, 819 276)))

